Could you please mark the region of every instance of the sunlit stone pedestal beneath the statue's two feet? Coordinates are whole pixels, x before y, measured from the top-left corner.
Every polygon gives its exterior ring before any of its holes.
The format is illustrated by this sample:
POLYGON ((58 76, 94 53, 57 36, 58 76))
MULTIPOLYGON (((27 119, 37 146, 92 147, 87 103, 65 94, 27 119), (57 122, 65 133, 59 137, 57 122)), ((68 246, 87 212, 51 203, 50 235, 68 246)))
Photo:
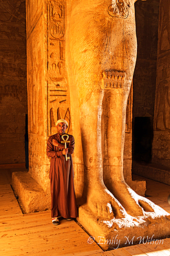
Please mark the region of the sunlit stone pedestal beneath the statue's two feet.
POLYGON ((89 234, 87 243, 93 240, 103 250, 113 250, 133 244, 158 244, 170 235, 170 216, 150 214, 150 217, 131 217, 103 221, 92 215, 87 205, 79 208, 78 223, 89 234))

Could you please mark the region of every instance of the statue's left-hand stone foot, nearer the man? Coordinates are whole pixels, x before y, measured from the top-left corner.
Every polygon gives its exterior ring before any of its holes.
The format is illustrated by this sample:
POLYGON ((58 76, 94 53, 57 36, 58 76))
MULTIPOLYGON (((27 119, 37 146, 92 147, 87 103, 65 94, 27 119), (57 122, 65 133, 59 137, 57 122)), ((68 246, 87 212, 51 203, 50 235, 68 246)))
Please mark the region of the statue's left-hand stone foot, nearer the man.
POLYGON ((87 205, 98 217, 109 219, 124 217, 125 209, 105 186, 90 190, 87 205))

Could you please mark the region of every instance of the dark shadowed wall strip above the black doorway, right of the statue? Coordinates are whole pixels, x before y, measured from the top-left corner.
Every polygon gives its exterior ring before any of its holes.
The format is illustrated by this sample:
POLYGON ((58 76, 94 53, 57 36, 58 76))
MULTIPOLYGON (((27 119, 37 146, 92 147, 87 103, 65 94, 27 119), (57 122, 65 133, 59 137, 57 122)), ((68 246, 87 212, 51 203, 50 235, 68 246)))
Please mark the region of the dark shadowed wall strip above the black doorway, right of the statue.
POLYGON ((159 0, 137 1, 135 6, 138 55, 134 71, 133 117, 148 116, 153 120, 159 0))

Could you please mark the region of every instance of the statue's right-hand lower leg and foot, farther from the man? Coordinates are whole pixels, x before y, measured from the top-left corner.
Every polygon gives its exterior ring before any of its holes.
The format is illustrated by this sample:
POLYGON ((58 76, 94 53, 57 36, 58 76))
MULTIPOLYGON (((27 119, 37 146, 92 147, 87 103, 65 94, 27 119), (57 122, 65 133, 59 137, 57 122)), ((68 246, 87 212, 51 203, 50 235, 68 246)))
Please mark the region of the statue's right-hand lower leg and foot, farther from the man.
POLYGON ((142 210, 153 211, 141 196, 125 183, 123 177, 123 149, 125 141, 125 118, 128 92, 123 88, 106 91, 103 111, 105 123, 105 185, 123 205, 128 214, 142 215, 142 210))

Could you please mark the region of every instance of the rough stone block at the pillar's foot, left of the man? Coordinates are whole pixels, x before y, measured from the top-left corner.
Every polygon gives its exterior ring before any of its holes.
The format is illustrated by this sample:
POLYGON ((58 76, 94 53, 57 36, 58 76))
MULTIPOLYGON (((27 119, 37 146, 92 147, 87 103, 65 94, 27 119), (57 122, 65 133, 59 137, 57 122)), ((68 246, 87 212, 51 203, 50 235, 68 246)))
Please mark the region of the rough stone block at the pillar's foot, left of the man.
POLYGON ((13 172, 12 188, 15 196, 19 197, 24 212, 50 209, 50 194, 45 194, 28 172, 13 172))

